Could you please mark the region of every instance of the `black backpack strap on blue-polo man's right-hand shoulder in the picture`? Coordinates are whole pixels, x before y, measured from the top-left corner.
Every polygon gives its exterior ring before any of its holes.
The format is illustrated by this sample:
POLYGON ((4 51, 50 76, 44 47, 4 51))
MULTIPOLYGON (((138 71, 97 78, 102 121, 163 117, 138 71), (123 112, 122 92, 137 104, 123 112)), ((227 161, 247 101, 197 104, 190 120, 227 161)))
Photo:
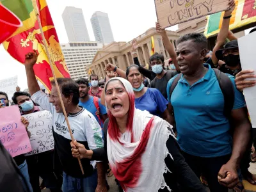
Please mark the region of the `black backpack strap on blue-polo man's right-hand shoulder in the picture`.
POLYGON ((216 74, 216 77, 218 79, 221 92, 224 96, 224 115, 227 118, 230 118, 231 111, 234 106, 235 102, 235 92, 234 92, 234 86, 232 84, 232 81, 229 79, 229 77, 218 70, 217 68, 212 68, 216 74))

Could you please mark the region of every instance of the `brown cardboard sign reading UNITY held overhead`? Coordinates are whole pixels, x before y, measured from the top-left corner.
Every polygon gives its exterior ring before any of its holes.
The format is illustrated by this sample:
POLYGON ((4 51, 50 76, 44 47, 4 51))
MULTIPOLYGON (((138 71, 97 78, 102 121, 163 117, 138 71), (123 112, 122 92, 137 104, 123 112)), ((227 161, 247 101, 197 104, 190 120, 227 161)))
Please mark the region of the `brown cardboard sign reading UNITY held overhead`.
POLYGON ((228 0, 155 0, 163 28, 228 9, 228 0))

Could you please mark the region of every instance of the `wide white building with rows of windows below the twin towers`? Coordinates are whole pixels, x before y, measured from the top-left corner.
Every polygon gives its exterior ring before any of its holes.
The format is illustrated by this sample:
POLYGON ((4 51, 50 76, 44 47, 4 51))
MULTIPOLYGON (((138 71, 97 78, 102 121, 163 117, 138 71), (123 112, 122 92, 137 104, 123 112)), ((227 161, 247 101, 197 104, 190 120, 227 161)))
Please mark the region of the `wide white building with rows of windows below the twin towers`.
POLYGON ((92 60, 102 44, 98 42, 70 42, 61 44, 70 77, 74 80, 88 78, 86 72, 87 65, 92 64, 92 60))

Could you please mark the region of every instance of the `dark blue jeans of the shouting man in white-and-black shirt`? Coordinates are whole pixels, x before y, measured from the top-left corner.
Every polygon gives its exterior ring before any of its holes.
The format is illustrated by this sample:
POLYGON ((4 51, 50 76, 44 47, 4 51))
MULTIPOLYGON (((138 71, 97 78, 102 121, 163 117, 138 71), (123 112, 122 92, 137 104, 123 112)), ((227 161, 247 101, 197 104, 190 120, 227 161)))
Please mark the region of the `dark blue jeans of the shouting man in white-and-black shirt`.
POLYGON ((98 184, 98 174, 95 170, 91 176, 74 178, 63 172, 63 192, 95 192, 98 184))

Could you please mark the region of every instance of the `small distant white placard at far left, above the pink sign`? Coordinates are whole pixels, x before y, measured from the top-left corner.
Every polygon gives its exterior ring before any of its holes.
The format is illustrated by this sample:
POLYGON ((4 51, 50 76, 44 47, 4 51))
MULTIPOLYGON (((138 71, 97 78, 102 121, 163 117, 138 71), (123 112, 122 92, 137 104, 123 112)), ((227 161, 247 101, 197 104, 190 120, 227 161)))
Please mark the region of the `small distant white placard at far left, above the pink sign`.
POLYGON ((0 80, 0 92, 7 93, 9 99, 12 99, 13 93, 16 92, 18 76, 0 80))

